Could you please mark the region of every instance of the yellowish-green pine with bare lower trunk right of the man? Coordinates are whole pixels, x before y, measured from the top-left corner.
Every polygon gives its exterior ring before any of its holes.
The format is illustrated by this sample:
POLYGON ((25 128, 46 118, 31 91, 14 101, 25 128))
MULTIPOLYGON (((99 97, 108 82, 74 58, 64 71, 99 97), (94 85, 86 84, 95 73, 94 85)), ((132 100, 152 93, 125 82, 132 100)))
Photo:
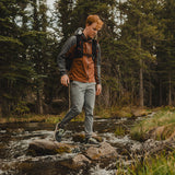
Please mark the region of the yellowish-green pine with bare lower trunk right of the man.
MULTIPOLYGON (((147 84, 144 75, 150 72, 150 63, 154 62, 154 44, 161 38, 161 33, 158 30, 156 18, 154 11, 158 11, 158 1, 137 1, 128 0, 122 3, 120 10, 126 15, 126 22, 124 23, 121 31, 121 39, 124 43, 127 40, 132 55, 130 59, 133 60, 140 70, 135 70, 131 73, 137 73, 139 80, 139 104, 144 105, 145 97, 143 92, 147 84), (140 74, 140 75, 139 75, 140 74)), ((127 45, 128 45, 127 44, 127 45)), ((137 81, 136 81, 137 83, 137 81)), ((135 86, 138 86, 135 84, 135 86)))

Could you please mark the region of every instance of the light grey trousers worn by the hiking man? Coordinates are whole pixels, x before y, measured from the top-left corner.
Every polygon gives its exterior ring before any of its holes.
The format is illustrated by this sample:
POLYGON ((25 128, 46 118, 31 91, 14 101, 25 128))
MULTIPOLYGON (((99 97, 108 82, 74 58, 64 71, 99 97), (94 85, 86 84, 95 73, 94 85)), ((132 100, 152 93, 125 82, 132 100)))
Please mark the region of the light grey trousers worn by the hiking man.
POLYGON ((72 81, 70 83, 71 108, 60 122, 61 126, 68 124, 72 118, 78 116, 84 106, 85 138, 90 138, 93 132, 93 109, 95 104, 95 83, 82 83, 72 81))

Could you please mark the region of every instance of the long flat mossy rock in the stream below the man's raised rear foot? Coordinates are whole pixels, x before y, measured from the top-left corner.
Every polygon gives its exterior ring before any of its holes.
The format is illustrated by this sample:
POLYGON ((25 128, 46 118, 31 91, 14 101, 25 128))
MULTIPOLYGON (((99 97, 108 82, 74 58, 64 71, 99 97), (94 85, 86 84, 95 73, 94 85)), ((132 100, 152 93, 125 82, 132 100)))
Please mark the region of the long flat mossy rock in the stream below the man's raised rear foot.
POLYGON ((59 143, 49 140, 34 140, 30 143, 28 154, 31 155, 46 155, 46 154, 57 154, 57 153, 70 153, 74 149, 73 145, 59 143))

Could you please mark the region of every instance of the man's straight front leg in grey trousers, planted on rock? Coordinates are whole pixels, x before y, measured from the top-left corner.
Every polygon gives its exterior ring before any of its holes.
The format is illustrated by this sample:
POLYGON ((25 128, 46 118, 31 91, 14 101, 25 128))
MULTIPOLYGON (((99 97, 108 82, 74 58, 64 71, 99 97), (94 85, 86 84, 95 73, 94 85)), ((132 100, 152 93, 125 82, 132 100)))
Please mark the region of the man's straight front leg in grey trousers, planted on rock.
POLYGON ((84 96, 84 109, 85 109, 85 138, 89 139, 93 132, 93 110, 95 105, 95 83, 88 83, 84 96))

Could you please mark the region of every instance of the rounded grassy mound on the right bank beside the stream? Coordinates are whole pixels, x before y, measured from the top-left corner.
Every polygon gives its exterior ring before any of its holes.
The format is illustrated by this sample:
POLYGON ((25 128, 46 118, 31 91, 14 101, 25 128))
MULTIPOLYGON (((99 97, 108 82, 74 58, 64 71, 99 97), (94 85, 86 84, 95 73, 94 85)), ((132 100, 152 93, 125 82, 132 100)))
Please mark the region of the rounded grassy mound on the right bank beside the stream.
POLYGON ((147 118, 131 129, 131 137, 145 140, 155 136, 158 140, 165 140, 175 132, 175 110, 160 110, 152 118, 147 118), (149 136, 150 135, 150 136, 149 136), (152 136, 151 136, 152 135, 152 136))

